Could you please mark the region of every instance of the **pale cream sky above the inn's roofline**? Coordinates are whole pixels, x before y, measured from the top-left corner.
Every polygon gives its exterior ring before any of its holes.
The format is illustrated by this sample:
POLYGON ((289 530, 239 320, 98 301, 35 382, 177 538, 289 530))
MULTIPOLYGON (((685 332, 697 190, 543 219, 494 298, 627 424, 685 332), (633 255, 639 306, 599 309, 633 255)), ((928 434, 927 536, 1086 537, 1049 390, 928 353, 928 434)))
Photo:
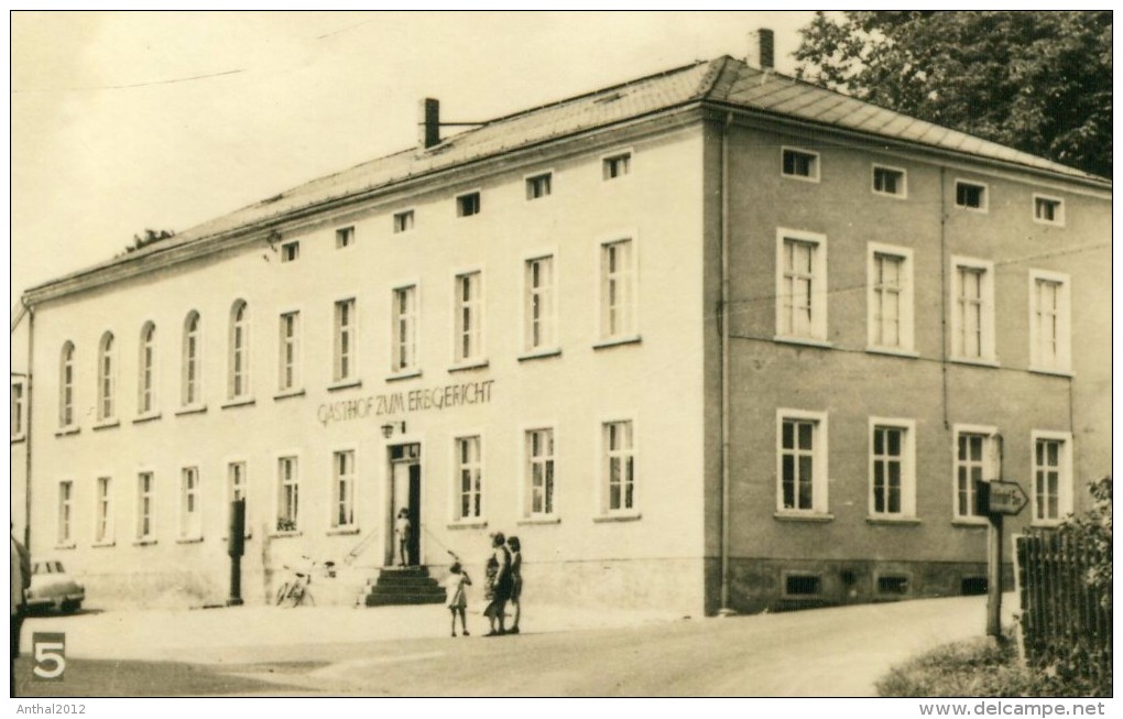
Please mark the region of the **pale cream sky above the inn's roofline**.
POLYGON ((811 11, 13 12, 11 302, 145 228, 185 230, 478 121, 720 55, 811 11))

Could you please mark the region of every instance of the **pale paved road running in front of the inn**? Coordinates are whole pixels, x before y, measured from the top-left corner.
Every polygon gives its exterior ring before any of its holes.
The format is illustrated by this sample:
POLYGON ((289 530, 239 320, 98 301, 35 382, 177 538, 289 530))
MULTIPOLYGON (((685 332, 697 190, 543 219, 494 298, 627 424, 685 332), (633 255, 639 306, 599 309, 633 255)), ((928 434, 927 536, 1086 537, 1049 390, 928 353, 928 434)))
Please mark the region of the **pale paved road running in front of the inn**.
MULTIPOLYGON (((430 635, 417 639, 197 647, 177 664, 121 659, 138 689, 117 677, 111 693, 861 697, 894 664, 980 635, 984 608, 984 598, 955 598, 455 639, 432 636, 430 621, 430 635)), ((111 662, 73 663, 86 683, 111 670, 111 662)))

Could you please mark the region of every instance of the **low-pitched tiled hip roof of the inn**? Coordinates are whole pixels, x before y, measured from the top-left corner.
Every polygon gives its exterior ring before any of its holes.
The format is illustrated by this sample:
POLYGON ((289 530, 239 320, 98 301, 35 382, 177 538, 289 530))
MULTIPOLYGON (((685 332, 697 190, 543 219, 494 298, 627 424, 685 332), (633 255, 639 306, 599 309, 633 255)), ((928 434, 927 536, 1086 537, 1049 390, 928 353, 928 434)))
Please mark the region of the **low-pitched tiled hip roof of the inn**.
MULTIPOLYGON (((411 147, 365 162, 203 222, 180 233, 173 239, 154 244, 126 257, 137 258, 163 252, 281 219, 332 200, 391 188, 413 178, 499 156, 520 147, 692 103, 736 107, 776 118, 797 119, 821 127, 1011 163, 1110 186, 1107 180, 1079 170, 722 56, 500 117, 449 137, 426 152, 411 147)), ((125 258, 118 257, 70 276, 86 274, 122 260, 125 258)))

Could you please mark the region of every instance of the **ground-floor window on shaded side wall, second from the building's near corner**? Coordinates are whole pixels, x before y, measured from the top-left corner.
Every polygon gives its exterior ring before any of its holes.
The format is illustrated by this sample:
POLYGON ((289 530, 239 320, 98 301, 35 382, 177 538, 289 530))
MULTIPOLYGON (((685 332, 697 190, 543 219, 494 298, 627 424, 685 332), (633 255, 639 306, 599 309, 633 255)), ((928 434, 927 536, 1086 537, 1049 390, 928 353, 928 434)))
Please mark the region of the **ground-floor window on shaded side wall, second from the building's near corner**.
POLYGON ((915 516, 914 429, 912 420, 869 420, 871 517, 901 519, 915 516))

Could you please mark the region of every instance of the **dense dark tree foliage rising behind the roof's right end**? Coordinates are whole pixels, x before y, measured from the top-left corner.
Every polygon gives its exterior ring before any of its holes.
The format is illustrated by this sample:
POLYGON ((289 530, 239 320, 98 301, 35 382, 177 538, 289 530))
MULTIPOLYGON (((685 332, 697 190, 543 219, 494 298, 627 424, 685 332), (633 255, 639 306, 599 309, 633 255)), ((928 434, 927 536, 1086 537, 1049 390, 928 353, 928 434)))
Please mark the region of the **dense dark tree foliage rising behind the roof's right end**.
POLYGON ((1110 178, 1112 12, 818 12, 797 75, 1110 178))

